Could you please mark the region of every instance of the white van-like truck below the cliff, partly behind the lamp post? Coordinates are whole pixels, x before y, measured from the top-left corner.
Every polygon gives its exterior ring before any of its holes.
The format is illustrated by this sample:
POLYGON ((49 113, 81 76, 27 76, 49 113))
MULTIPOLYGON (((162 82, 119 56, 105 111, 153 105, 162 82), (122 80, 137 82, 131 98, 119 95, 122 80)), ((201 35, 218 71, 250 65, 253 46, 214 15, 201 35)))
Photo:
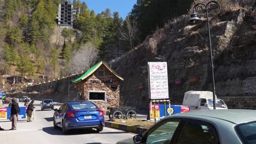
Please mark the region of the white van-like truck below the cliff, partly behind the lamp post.
MULTIPOLYGON (((216 109, 228 109, 222 99, 217 99, 216 109)), ((190 106, 190 110, 213 110, 213 93, 210 91, 188 91, 185 92, 182 105, 190 106)))

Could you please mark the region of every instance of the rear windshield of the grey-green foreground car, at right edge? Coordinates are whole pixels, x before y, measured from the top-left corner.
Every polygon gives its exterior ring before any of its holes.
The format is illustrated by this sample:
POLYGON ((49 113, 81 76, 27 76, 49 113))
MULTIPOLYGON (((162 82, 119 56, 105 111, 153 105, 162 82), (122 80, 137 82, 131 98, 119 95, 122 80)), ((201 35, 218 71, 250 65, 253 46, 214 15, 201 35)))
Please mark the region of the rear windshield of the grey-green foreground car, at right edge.
POLYGON ((236 131, 243 143, 256 143, 256 122, 238 124, 236 131))

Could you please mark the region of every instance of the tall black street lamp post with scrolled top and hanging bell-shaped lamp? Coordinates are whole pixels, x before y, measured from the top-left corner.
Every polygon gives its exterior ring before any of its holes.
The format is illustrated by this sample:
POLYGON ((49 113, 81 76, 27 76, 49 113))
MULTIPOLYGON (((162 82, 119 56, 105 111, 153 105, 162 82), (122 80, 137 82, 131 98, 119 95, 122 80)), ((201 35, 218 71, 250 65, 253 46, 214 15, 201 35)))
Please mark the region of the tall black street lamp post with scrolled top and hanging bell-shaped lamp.
POLYGON ((189 19, 189 24, 196 24, 201 22, 202 20, 197 17, 196 13, 206 13, 207 19, 207 27, 208 27, 208 35, 209 35, 209 45, 210 45, 210 55, 211 55, 211 68, 212 68, 212 88, 213 88, 213 109, 216 109, 216 94, 215 94, 215 81, 214 81, 214 65, 213 65, 213 58, 212 58, 212 42, 211 42, 211 32, 210 32, 210 23, 208 19, 208 13, 210 13, 214 9, 220 9, 220 4, 216 1, 210 1, 207 4, 197 3, 193 8, 193 14, 191 14, 191 18, 189 19))

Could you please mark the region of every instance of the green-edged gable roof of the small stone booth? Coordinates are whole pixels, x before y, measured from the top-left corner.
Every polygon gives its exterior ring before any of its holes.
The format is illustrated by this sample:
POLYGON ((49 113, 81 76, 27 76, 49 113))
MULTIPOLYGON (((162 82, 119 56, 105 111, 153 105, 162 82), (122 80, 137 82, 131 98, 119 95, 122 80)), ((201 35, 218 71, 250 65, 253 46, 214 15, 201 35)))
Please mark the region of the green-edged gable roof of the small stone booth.
POLYGON ((111 71, 115 76, 117 76, 121 81, 124 80, 121 76, 119 76, 117 73, 115 73, 115 71, 112 70, 105 62, 101 61, 101 62, 95 64, 94 67, 91 67, 88 71, 86 71, 85 74, 83 74, 82 76, 80 76, 78 79, 73 80, 72 82, 79 82, 79 81, 81 81, 81 80, 86 79, 86 77, 88 77, 89 75, 91 75, 92 73, 94 73, 94 71, 96 71, 102 64, 105 65, 105 66, 107 67, 107 69, 108 69, 109 71, 111 71))

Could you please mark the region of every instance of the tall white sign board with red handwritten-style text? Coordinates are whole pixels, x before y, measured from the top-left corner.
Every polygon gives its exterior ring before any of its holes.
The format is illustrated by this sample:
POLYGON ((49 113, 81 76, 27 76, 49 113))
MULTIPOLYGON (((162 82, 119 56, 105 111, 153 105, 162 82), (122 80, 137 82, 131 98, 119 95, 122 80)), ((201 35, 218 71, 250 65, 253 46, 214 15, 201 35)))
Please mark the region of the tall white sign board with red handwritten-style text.
POLYGON ((169 99, 166 62, 148 62, 150 99, 169 99))

